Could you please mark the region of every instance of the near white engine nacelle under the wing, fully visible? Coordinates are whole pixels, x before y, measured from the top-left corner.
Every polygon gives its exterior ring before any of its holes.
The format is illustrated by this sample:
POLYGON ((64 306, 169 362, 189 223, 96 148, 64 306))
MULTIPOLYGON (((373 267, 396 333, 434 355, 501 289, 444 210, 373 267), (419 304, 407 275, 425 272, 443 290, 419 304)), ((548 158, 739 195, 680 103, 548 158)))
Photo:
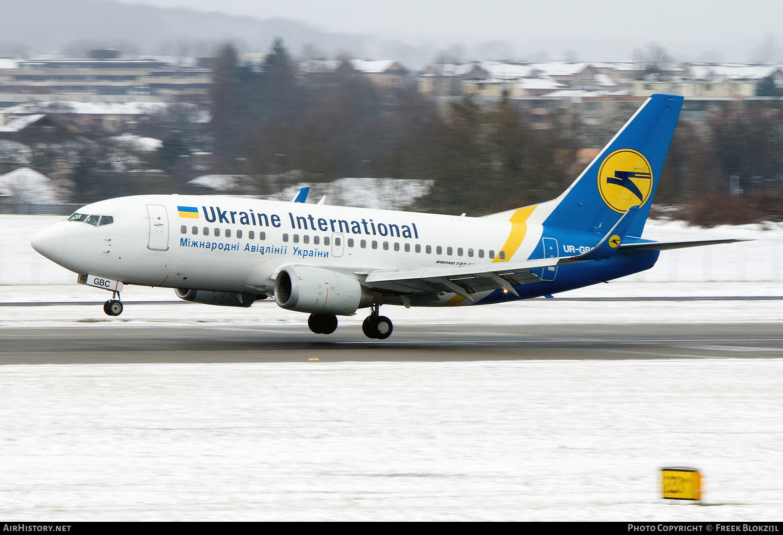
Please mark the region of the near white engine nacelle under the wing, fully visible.
POLYGON ((275 300, 290 311, 349 316, 369 307, 373 293, 351 275, 312 266, 287 266, 275 279, 275 300))

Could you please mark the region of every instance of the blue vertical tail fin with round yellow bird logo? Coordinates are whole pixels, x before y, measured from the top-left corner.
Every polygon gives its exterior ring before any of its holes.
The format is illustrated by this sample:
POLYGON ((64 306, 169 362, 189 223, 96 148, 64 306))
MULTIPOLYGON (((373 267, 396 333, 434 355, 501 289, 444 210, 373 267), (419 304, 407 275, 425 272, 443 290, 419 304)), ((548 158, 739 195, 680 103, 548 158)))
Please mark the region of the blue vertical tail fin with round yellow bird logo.
POLYGON ((641 236, 683 98, 652 95, 554 202, 544 224, 608 232, 639 206, 626 235, 641 236))

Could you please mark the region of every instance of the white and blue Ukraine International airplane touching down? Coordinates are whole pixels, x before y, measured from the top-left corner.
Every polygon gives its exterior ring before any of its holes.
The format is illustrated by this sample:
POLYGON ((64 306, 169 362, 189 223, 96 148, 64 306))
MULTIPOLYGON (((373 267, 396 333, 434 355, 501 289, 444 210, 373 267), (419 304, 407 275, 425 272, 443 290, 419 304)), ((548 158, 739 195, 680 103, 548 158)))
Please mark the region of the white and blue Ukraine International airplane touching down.
MULTIPOLYGON (((250 307, 273 296, 319 334, 381 305, 455 307, 552 296, 650 269, 660 251, 742 241, 642 239, 683 97, 652 95, 557 199, 485 217, 231 196, 130 196, 84 206, 34 235, 34 250, 108 289, 175 289, 250 307)), ((503 192, 498 192, 503 195, 503 192)))

